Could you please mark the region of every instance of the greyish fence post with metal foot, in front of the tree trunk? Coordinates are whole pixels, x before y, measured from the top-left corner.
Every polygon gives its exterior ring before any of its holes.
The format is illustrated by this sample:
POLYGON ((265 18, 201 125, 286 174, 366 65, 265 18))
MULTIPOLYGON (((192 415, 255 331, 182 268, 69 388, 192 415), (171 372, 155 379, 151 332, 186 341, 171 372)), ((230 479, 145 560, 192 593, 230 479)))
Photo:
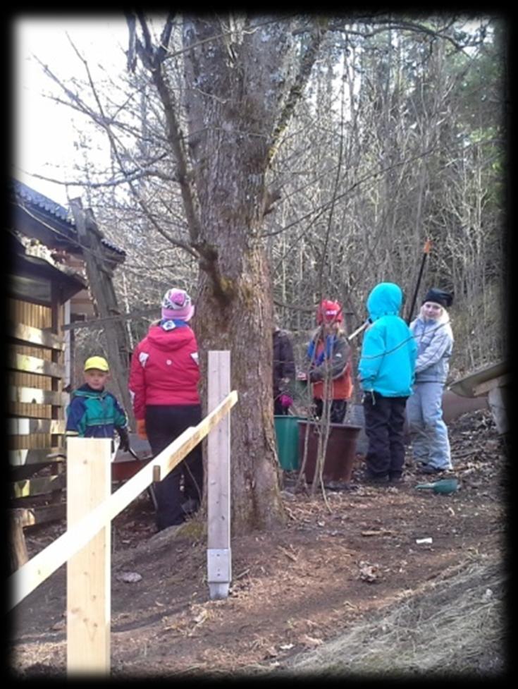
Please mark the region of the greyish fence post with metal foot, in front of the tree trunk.
MULTIPOLYGON (((230 352, 210 351, 208 411, 230 392, 230 352)), ((211 599, 228 597, 232 579, 230 552, 230 413, 207 439, 207 582, 211 599)))

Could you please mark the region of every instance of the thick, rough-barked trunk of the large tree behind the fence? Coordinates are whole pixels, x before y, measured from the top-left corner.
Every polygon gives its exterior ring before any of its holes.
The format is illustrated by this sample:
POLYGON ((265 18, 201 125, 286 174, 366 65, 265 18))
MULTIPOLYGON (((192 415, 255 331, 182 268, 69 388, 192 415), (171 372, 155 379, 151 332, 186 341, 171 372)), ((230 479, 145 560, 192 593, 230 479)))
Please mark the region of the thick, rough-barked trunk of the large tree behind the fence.
MULTIPOLYGON (((271 280, 259 233, 276 135, 300 94, 291 86, 303 85, 288 26, 263 16, 262 26, 254 20, 243 32, 239 21, 231 33, 230 24, 213 18, 184 22, 202 257, 195 328, 202 352, 231 353, 231 386, 239 394, 232 413, 235 532, 284 519, 273 431, 271 280)), ((309 73, 309 63, 304 68, 309 73)), ((202 370, 205 363, 202 357, 202 370)))

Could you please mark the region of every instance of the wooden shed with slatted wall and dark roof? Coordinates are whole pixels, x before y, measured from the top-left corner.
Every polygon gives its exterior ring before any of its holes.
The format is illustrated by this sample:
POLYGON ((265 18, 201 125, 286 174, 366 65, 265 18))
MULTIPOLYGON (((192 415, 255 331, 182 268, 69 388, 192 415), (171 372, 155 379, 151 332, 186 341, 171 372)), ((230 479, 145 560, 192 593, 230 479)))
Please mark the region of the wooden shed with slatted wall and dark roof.
MULTIPOLYGON (((74 359, 66 326, 97 313, 67 210, 18 181, 9 184, 9 199, 9 485, 11 514, 23 527, 65 515, 61 453, 74 359)), ((108 269, 125 260, 104 238, 100 246, 108 269)))

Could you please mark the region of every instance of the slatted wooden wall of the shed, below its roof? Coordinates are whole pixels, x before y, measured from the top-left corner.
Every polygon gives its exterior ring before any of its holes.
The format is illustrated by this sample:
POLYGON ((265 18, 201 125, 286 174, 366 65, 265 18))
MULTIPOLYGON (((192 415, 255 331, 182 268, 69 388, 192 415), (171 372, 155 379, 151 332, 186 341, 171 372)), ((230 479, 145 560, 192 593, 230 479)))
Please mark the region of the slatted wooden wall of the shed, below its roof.
POLYGON ((64 306, 8 300, 10 507, 22 527, 65 514, 64 306))

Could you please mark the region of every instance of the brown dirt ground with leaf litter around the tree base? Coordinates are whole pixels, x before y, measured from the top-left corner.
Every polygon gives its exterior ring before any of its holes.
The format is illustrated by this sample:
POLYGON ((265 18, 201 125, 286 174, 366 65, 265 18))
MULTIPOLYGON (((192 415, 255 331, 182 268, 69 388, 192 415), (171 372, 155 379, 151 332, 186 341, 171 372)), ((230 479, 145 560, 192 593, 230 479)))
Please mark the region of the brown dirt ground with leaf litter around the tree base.
MULTIPOLYGON (((155 535, 152 502, 142 494, 113 525, 112 676, 273 673, 434 580, 444 583, 474 564, 502 566, 506 451, 491 414, 462 415, 450 423, 450 441, 450 474, 461 486, 455 494, 416 489, 426 477, 409 458, 401 486, 366 487, 358 456, 352 488, 327 491, 328 505, 321 494, 294 494, 294 475, 285 474, 287 523, 233 538, 225 600, 209 599, 201 523, 155 535)), ((62 530, 27 531, 30 556, 62 530)), ((14 676, 65 676, 65 609, 63 566, 11 614, 14 676)), ((505 659, 485 662, 494 673, 505 659)))

